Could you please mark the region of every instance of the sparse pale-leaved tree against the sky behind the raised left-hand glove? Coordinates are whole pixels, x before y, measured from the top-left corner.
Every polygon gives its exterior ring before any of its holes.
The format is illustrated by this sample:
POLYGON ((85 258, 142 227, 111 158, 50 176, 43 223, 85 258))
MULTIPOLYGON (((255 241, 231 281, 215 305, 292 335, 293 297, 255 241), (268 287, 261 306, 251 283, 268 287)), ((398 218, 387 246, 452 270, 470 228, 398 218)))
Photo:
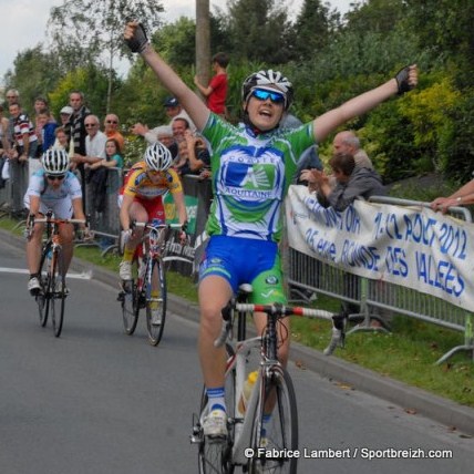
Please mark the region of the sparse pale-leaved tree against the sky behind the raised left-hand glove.
POLYGON ((125 22, 140 19, 150 30, 159 24, 162 11, 163 6, 155 0, 64 0, 61 7, 51 9, 49 25, 53 49, 64 71, 78 65, 106 64, 109 111, 114 59, 130 54, 122 38, 125 22))

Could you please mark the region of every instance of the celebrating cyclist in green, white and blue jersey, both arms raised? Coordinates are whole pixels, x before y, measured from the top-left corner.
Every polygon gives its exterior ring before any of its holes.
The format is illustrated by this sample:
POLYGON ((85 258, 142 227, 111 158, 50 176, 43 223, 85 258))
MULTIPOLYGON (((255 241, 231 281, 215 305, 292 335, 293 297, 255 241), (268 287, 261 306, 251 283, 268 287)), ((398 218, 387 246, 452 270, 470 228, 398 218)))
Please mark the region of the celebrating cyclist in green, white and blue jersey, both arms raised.
MULTIPOLYGON (((418 82, 416 65, 402 69, 384 84, 296 130, 279 128, 292 102, 291 82, 278 71, 256 72, 243 84, 244 124, 234 126, 210 113, 153 50, 141 24, 127 23, 124 38, 184 106, 210 151, 214 202, 207 223, 210 239, 199 272, 198 351, 209 399, 204 434, 226 435, 225 349, 214 347, 221 327, 220 310, 241 282, 253 285, 256 303, 286 301, 278 253, 280 214, 298 157, 344 122, 413 89, 418 82)), ((255 323, 261 333, 265 315, 256 315, 255 323)), ((288 358, 288 334, 289 321, 284 320, 278 353, 284 364, 288 358)))

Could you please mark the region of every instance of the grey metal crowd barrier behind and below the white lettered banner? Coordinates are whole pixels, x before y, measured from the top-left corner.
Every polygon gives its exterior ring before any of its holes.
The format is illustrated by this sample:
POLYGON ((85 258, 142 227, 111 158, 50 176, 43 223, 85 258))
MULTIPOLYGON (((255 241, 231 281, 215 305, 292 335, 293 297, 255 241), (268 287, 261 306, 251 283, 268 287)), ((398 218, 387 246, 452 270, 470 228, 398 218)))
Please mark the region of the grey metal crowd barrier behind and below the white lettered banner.
MULTIPOLYGON (((390 197, 371 200, 398 206, 429 206, 429 203, 390 197)), ((472 221, 471 213, 465 207, 452 208, 450 213, 472 221)), ((409 287, 352 275, 292 248, 288 249, 287 268, 288 284, 293 295, 305 297, 309 292, 316 292, 360 307, 360 313, 350 315, 349 318, 363 317, 363 323, 348 331, 348 334, 369 329, 371 319, 383 323, 384 318, 381 315, 390 311, 463 332, 464 343, 452 348, 436 364, 460 351, 471 352, 474 360, 474 313, 470 311, 409 287)))

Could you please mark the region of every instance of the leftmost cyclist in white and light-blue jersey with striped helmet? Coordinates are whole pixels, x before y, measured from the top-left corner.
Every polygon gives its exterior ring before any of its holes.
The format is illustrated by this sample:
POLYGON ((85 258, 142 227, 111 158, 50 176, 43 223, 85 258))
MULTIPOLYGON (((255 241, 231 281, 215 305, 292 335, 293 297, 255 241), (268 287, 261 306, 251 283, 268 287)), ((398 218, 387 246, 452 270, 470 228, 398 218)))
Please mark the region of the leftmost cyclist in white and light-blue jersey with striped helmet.
MULTIPOLYGON (((31 176, 27 194, 24 195, 24 205, 30 215, 44 217, 49 209, 53 216, 59 219, 84 219, 82 210, 82 190, 76 176, 69 171, 70 158, 64 150, 48 150, 41 157, 42 169, 39 169, 31 176)), ((85 225, 81 225, 86 230, 85 225)), ((38 268, 41 259, 41 239, 43 236, 44 224, 34 225, 31 238, 27 243, 27 261, 30 271, 28 290, 32 296, 38 295, 41 289, 38 279, 38 268)), ((62 241, 65 271, 68 272, 73 254, 73 226, 72 224, 62 224, 60 226, 60 236, 62 241)))

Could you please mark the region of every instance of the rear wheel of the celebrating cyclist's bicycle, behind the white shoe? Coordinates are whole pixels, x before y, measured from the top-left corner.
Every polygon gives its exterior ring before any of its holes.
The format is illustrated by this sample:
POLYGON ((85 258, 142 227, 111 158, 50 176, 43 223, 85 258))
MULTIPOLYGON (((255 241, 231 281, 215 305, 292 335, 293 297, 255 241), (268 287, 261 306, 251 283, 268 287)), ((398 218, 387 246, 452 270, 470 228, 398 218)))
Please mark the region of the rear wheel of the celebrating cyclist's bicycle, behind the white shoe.
MULTIPOLYGON (((234 354, 234 350, 230 346, 226 346, 227 359, 234 354)), ((235 419, 233 418, 235 411, 235 370, 233 369, 226 377, 226 410, 229 421, 227 423, 228 435, 227 437, 209 439, 204 436, 200 429, 200 444, 198 452, 198 465, 199 474, 233 474, 234 464, 231 464, 231 446, 234 443, 234 429, 235 419)), ((208 399, 206 395, 206 389, 203 389, 203 395, 200 398, 200 420, 199 425, 203 422, 203 418, 207 411, 208 399)))

